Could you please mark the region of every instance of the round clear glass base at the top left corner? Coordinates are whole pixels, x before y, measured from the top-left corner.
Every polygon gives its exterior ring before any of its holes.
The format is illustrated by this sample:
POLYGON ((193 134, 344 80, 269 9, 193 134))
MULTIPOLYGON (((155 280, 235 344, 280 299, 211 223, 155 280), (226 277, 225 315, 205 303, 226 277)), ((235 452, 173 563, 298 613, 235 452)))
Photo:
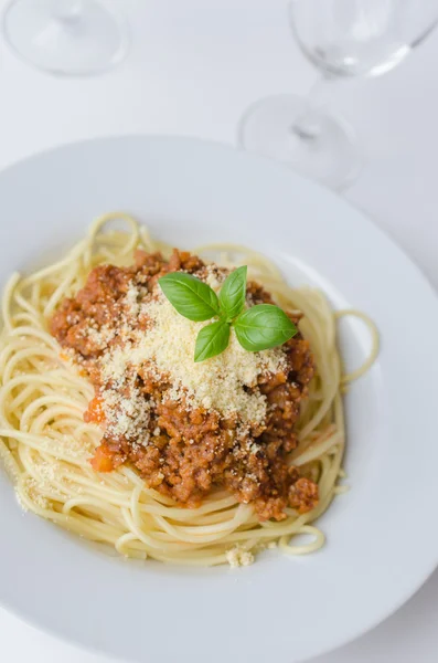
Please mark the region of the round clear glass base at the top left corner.
POLYGON ((115 66, 129 43, 124 20, 99 0, 11 0, 3 34, 28 63, 76 76, 115 66))

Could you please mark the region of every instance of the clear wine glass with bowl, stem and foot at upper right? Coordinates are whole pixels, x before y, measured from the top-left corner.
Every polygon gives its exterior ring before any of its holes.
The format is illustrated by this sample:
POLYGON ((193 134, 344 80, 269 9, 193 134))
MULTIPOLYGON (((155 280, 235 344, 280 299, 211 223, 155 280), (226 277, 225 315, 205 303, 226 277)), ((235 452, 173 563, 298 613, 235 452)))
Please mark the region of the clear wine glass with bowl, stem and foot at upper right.
POLYGON ((238 141, 342 189, 357 176, 361 155, 352 128, 327 110, 333 81, 395 67, 437 24, 438 0, 291 0, 289 19, 320 78, 307 98, 285 94, 250 106, 238 141))

